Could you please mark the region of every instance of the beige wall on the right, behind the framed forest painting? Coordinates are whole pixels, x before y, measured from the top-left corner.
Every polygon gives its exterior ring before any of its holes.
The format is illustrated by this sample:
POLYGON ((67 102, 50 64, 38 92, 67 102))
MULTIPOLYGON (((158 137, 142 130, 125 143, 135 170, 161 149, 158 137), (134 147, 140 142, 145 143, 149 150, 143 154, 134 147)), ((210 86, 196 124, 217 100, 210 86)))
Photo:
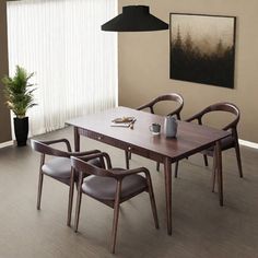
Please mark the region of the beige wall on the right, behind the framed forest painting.
POLYGON ((184 96, 183 118, 210 104, 227 101, 241 112, 239 138, 258 142, 258 1, 257 0, 119 0, 150 5, 169 22, 169 12, 234 15, 236 25, 235 89, 223 89, 169 79, 169 32, 119 33, 119 105, 137 107, 163 93, 184 96))

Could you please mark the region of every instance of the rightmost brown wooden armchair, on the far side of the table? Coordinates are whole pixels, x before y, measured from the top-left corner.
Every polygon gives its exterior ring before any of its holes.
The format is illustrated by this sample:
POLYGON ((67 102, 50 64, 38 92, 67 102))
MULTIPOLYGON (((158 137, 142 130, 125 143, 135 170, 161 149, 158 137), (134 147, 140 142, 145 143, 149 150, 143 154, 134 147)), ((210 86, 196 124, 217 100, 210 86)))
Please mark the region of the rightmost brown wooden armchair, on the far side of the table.
MULTIPOLYGON (((241 113, 239 113, 239 109, 234 104, 232 103, 213 104, 211 106, 206 107, 200 113, 191 116, 186 121, 197 120, 199 125, 202 125, 203 117, 212 112, 225 112, 225 113, 231 113, 234 115, 233 120, 231 120, 230 124, 225 125, 222 128, 222 130, 231 131, 231 136, 221 140, 221 150, 225 151, 231 148, 235 149, 239 176, 243 177, 238 134, 237 134, 237 125, 241 118, 241 113)), ((204 165, 208 166, 208 156, 212 156, 214 159, 214 146, 211 146, 202 151, 201 153, 203 154, 204 165)), ((175 177, 177 177, 177 169, 175 169, 175 177)), ((213 161, 213 187, 212 187, 213 191, 214 191, 214 184, 215 184, 215 172, 214 172, 214 161, 213 161)))

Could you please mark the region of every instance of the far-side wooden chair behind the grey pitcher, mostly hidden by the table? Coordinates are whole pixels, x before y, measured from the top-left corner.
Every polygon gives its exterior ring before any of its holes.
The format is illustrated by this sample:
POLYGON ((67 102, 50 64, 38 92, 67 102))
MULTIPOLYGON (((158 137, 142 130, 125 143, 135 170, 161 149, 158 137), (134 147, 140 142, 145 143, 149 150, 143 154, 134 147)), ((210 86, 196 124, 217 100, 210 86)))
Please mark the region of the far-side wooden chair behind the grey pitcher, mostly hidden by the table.
MULTIPOLYGON (((169 93, 155 97, 151 102, 138 107, 137 109, 138 110, 148 109, 151 114, 156 114, 156 107, 159 106, 159 104, 161 104, 161 102, 175 102, 177 104, 176 108, 173 106, 173 108, 175 109, 166 114, 166 116, 176 116, 177 119, 180 120, 181 118, 180 112, 184 107, 184 98, 181 95, 177 93, 169 93)), ((131 153, 125 151, 125 154, 126 154, 126 167, 129 169, 129 160, 131 159, 131 153)), ((156 163, 156 169, 160 171, 160 163, 156 163)))

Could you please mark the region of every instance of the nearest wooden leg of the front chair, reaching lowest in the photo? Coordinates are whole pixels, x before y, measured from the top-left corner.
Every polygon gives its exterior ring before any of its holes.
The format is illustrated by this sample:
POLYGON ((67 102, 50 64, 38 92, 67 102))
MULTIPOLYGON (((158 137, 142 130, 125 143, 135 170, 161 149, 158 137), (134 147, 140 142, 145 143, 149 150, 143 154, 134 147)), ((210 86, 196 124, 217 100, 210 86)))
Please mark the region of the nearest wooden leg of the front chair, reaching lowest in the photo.
POLYGON ((120 207, 120 191, 121 191, 121 181, 117 183, 116 199, 114 204, 114 219, 113 219, 113 231, 112 231, 112 254, 115 254, 116 239, 117 239, 117 224, 119 218, 119 207, 120 207))

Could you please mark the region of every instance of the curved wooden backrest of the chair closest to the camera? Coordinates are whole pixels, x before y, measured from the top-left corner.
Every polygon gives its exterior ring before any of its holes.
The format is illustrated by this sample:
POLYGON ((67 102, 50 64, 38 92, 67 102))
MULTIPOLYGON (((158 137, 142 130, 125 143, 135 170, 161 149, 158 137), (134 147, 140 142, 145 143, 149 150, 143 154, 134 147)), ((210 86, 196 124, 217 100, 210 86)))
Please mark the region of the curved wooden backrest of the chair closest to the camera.
MULTIPOLYGON (((99 156, 102 160, 103 156, 99 156)), ((102 161, 104 163, 104 161, 102 161)), ((85 160, 81 160, 74 156, 71 156, 71 165, 72 167, 84 174, 94 175, 94 176, 102 176, 102 177, 116 177, 112 172, 105 168, 97 167, 91 163, 87 163, 85 160)), ((109 166, 109 165, 108 165, 109 166)))

